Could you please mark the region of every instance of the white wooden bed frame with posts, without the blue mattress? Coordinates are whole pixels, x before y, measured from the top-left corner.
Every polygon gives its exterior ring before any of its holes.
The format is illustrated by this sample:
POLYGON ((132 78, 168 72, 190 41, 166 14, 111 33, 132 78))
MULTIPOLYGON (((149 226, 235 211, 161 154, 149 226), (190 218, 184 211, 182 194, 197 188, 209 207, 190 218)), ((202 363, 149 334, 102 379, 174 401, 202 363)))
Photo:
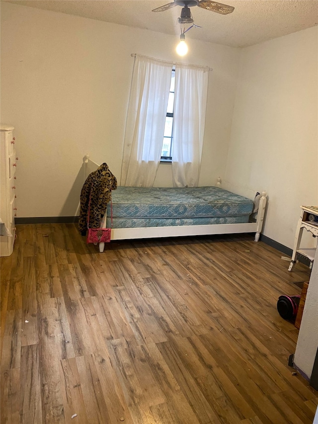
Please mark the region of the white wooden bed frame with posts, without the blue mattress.
MULTIPOLYGON (((88 174, 96 170, 99 165, 89 159, 86 155, 83 158, 85 179, 88 174)), ((218 178, 217 186, 221 186, 221 178, 218 178)), ((223 188, 236 194, 251 198, 251 190, 239 189, 239 187, 230 188, 229 183, 223 183, 223 188), (243 194, 244 193, 244 194, 243 194)), ((254 193, 255 196, 255 193, 254 193)), ((254 197, 252 198, 254 200, 254 197)), ((245 224, 209 224, 209 225, 182 225, 179 227, 141 227, 141 228, 112 228, 111 240, 130 240, 130 239, 153 239, 161 237, 182 237, 182 236, 205 236, 214 234, 237 234, 237 233, 255 233, 255 242, 258 242, 263 226, 266 207, 266 191, 262 191, 259 199, 258 211, 255 222, 245 224)), ((106 227, 106 218, 103 228, 106 227)), ((99 243, 99 252, 104 251, 105 243, 99 243)))

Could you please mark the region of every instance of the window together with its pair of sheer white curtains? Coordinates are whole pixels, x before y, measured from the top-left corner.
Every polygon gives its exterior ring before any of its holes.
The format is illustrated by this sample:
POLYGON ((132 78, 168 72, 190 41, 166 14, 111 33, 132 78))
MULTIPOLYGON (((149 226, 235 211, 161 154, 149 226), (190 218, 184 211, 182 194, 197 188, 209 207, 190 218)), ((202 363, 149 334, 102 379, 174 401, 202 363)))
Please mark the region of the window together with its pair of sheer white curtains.
POLYGON ((136 55, 129 96, 121 185, 150 187, 159 162, 175 187, 198 185, 209 68, 136 55), (171 158, 172 157, 172 158, 171 158))

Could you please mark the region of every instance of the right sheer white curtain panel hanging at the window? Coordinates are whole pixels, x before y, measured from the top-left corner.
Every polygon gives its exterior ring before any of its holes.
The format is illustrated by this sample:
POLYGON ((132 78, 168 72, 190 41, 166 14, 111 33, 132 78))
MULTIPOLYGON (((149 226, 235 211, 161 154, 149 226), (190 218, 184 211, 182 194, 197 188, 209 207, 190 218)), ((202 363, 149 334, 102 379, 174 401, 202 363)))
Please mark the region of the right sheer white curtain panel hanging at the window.
POLYGON ((173 109, 174 187, 196 187, 202 157, 209 69, 176 65, 173 109))

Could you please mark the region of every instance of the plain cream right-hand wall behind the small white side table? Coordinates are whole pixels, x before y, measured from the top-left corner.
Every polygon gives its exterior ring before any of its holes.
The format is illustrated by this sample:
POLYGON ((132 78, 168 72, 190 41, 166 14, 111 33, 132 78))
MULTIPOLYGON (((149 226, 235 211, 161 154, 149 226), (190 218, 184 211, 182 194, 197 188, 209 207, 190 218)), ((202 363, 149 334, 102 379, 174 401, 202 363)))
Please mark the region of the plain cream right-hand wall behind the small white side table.
POLYGON ((225 177, 268 191, 263 233, 289 248, 300 205, 318 204, 317 55, 317 27, 241 55, 225 177))

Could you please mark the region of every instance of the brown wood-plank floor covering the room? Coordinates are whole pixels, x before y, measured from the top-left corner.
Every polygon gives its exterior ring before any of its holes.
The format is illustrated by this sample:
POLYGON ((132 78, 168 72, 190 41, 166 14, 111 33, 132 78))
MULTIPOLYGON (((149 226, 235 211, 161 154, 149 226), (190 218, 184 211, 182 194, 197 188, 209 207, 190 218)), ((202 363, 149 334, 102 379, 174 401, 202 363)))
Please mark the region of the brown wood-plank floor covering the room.
POLYGON ((17 226, 1 258, 1 424, 311 424, 318 392, 292 375, 298 330, 276 310, 309 270, 287 268, 248 235, 100 254, 74 224, 17 226))

